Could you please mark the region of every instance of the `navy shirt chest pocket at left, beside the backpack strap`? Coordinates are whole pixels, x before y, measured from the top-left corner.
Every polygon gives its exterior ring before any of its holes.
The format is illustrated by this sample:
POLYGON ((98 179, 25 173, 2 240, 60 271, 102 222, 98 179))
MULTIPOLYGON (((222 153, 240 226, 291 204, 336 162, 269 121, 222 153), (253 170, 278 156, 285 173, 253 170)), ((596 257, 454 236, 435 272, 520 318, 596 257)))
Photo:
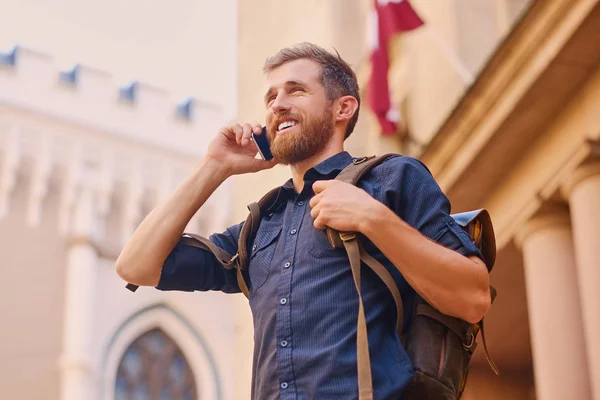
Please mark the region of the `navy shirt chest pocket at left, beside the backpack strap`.
POLYGON ((277 238, 281 226, 264 227, 261 225, 256 232, 254 243, 250 249, 248 272, 250 275, 250 292, 256 292, 269 277, 271 262, 277 247, 277 238))

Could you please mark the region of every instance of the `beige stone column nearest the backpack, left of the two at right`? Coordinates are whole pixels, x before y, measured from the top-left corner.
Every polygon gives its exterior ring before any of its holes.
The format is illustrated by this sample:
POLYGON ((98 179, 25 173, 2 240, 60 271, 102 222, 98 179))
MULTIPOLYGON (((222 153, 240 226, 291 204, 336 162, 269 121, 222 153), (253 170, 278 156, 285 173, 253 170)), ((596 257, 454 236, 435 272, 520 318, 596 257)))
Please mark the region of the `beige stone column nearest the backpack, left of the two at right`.
POLYGON ((523 251, 537 399, 590 399, 568 211, 556 208, 534 217, 518 242, 523 251))

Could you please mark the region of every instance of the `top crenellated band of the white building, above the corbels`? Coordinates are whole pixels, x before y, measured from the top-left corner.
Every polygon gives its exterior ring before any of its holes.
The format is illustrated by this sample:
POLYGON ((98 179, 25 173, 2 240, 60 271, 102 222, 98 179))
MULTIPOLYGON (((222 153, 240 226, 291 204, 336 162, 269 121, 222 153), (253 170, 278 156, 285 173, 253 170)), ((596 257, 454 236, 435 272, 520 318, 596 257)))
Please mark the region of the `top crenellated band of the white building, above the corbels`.
POLYGON ((23 47, 0 53, 1 104, 189 155, 201 154, 206 135, 226 118, 217 104, 117 82, 85 65, 61 70, 52 57, 23 47))

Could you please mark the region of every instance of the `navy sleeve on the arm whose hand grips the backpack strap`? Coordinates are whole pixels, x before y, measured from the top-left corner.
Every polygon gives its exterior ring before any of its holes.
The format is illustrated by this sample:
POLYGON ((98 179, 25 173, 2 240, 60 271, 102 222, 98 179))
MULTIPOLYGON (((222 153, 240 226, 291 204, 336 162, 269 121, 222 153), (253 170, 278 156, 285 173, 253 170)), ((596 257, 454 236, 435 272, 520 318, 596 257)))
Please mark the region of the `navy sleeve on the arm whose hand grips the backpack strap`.
POLYGON ((381 165, 385 203, 431 240, 464 256, 483 259, 468 234, 450 215, 450 201, 427 167, 412 157, 394 157, 381 165))

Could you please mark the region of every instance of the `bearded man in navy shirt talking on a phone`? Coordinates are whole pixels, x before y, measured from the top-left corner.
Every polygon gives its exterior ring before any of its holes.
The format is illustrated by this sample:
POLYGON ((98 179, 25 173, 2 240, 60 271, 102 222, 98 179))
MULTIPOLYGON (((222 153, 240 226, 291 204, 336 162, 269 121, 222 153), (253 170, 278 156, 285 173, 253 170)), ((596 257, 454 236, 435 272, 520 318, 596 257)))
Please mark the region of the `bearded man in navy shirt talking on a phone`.
MULTIPOLYGON (((265 121, 277 161, 255 158, 251 132, 261 131, 258 123, 223 128, 189 177, 141 223, 117 272, 160 290, 240 292, 235 270, 178 241, 226 178, 288 165, 292 178, 261 220, 245 277, 255 329, 252 397, 355 399, 358 297, 348 256, 330 246, 325 226, 359 232, 392 273, 406 310, 421 296, 475 323, 490 307, 488 272, 419 161, 386 160, 359 187, 333 180, 353 161, 343 144, 360 105, 356 76, 339 56, 304 43, 280 50, 264 70, 265 121)), ((235 254, 241 226, 210 239, 235 254)), ((395 332, 395 303, 368 268, 362 295, 375 398, 397 399, 413 368, 395 332)))

